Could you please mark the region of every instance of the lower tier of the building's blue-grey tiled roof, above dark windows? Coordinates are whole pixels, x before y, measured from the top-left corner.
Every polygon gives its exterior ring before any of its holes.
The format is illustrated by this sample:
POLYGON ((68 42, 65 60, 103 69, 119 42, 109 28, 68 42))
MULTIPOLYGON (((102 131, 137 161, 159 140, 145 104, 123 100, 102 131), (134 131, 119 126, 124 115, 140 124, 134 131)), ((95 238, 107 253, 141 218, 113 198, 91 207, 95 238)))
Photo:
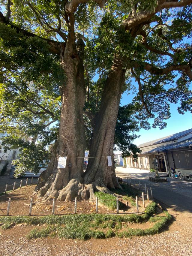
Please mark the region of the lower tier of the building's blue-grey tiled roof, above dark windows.
POLYGON ((155 153, 155 152, 161 152, 161 151, 164 151, 164 150, 167 150, 167 149, 179 149, 179 148, 185 148, 185 147, 189 147, 191 146, 192 147, 192 138, 190 139, 187 139, 187 140, 183 140, 181 142, 178 142, 178 143, 174 143, 174 144, 168 144, 168 145, 164 145, 164 146, 158 146, 154 149, 151 149, 151 150, 148 150, 148 151, 145 151, 145 150, 142 150, 142 154, 149 154, 149 153, 155 153))

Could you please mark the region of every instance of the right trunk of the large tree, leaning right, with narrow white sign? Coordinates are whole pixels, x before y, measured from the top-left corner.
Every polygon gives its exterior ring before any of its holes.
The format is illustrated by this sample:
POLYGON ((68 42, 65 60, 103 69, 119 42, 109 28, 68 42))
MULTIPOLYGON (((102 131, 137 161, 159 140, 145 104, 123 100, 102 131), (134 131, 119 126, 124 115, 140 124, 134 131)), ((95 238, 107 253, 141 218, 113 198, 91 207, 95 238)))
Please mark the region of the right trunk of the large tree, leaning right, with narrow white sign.
POLYGON ((120 187, 113 164, 113 143, 122 86, 125 83, 125 71, 121 59, 115 59, 106 80, 100 111, 95 118, 84 182, 86 184, 93 182, 99 190, 101 190, 101 187, 120 187), (112 158, 112 166, 110 167, 108 166, 107 156, 112 158))

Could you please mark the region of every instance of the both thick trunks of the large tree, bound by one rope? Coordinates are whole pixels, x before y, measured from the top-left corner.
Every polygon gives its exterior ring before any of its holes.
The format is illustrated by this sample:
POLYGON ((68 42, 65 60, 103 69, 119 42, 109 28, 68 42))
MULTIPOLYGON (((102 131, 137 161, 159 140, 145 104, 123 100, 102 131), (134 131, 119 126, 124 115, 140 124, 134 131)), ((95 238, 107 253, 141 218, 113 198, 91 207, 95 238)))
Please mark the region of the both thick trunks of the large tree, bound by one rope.
POLYGON ((83 173, 85 152, 83 107, 86 96, 83 49, 84 47, 78 51, 77 58, 73 58, 67 49, 64 52, 63 63, 67 79, 62 93, 58 142, 47 170, 40 177, 40 179, 44 179, 42 185, 43 183, 45 185, 40 189, 39 194, 44 196, 44 199, 54 196, 59 197, 60 200, 71 200, 71 194, 74 195, 74 191, 76 191, 74 186, 79 187, 83 193, 86 191, 86 185, 81 183, 92 183, 94 189, 97 187, 119 187, 113 164, 113 142, 119 101, 125 82, 125 69, 121 60, 115 59, 106 80, 100 111, 95 118, 90 158, 87 170, 83 173), (66 168, 57 169, 58 156, 67 156, 66 168), (112 166, 110 167, 108 167, 106 156, 112 157, 112 166), (73 184, 72 181, 74 181, 73 184), (66 188, 68 193, 66 186, 69 182, 69 190, 73 191, 66 195, 66 188), (64 192, 60 194, 63 188, 64 192))

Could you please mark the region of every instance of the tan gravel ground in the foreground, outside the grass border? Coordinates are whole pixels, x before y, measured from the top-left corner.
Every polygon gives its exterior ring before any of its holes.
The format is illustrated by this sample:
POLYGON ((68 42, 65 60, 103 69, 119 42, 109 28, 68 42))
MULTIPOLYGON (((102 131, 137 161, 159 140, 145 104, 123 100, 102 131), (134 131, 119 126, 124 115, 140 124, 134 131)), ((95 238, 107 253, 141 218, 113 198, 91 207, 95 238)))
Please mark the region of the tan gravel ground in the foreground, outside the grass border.
POLYGON ((125 239, 91 239, 88 241, 35 239, 19 237, 11 230, 0 230, 1 256, 124 256, 124 255, 192 255, 192 218, 169 209, 173 224, 168 230, 153 236, 125 239))

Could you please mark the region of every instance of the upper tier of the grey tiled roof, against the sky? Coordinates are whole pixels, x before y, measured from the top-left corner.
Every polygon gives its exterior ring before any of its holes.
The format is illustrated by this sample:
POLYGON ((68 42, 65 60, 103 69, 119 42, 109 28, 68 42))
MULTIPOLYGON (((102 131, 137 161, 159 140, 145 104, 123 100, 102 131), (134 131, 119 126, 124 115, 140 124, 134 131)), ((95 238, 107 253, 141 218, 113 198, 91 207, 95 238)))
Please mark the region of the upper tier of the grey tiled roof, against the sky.
POLYGON ((186 135, 188 135, 190 133, 192 133, 192 128, 188 129, 186 131, 181 131, 181 132, 178 132, 178 133, 175 133, 175 134, 172 134, 172 135, 169 135, 169 136, 157 139, 157 140, 152 140, 152 141, 140 144, 138 147, 142 148, 142 147, 146 147, 146 146, 150 146, 150 145, 164 143, 164 142, 171 141, 171 140, 176 140, 176 139, 182 138, 182 137, 184 137, 184 136, 186 136, 186 135))

